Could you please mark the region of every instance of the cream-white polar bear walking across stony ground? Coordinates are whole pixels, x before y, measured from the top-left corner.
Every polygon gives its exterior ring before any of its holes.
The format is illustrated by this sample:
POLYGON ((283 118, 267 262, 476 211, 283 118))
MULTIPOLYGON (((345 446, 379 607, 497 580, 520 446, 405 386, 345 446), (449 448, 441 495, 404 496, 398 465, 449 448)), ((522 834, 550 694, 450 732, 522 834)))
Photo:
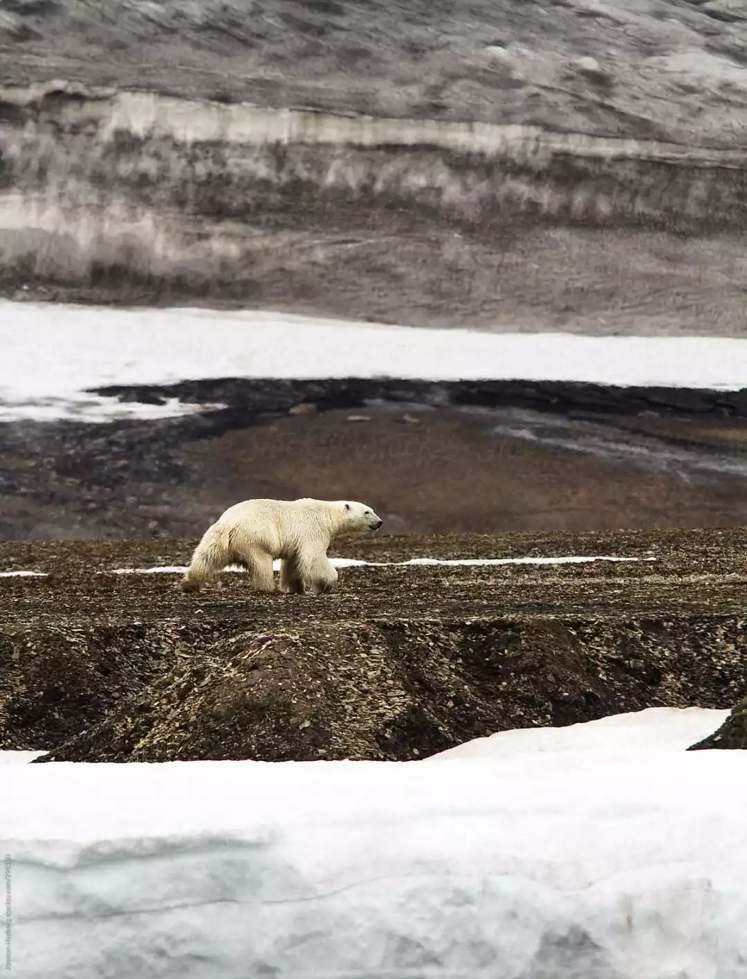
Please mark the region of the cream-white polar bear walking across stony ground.
POLYGON ((226 565, 237 564, 249 572, 257 591, 273 591, 272 561, 280 558, 282 591, 331 591, 337 583, 327 557, 331 542, 378 531, 383 523, 370 506, 354 500, 248 499, 229 506, 208 528, 181 586, 198 591, 226 565))

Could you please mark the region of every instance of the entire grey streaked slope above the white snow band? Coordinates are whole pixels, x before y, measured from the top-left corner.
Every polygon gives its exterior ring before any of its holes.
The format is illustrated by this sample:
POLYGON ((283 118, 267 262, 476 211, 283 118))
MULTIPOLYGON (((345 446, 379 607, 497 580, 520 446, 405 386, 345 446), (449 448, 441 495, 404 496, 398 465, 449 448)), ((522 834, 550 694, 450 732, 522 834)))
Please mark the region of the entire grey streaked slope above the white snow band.
POLYGON ((743 330, 740 5, 4 0, 0 44, 6 295, 743 330))

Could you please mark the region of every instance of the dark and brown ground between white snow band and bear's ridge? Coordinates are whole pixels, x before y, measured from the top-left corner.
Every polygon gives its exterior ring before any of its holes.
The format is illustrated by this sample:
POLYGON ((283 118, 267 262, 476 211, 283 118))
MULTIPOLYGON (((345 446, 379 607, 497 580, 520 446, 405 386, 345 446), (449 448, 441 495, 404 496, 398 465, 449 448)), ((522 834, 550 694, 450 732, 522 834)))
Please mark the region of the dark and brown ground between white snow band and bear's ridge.
POLYGON ((363 496, 388 534, 747 524, 737 392, 229 378, 105 393, 225 407, 0 425, 0 538, 193 536, 253 496, 363 496))

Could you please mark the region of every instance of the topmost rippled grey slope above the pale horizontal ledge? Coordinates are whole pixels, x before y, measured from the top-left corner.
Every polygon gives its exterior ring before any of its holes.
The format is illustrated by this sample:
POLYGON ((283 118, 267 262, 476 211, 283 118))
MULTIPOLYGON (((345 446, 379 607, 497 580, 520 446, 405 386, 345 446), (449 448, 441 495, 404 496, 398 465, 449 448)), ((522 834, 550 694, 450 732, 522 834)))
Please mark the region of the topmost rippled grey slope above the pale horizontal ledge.
POLYGON ((9 84, 739 147, 741 0, 3 0, 9 84))

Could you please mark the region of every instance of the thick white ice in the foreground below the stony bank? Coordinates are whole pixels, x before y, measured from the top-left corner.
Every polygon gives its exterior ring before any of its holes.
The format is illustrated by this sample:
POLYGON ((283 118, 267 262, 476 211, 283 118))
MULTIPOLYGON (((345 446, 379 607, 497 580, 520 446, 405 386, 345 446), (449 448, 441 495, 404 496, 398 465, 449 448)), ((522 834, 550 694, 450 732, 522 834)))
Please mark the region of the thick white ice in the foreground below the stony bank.
POLYGON ((723 718, 404 764, 8 766, 13 974, 742 979, 747 754, 683 750, 723 718))

